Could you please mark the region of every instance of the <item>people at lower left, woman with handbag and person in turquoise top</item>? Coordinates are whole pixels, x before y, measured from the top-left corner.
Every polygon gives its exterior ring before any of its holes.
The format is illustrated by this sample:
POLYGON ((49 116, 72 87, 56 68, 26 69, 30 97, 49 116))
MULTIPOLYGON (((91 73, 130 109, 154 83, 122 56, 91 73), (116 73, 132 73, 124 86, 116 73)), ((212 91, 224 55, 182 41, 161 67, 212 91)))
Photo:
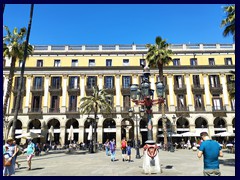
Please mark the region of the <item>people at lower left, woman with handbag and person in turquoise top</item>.
MULTIPOLYGON (((11 176, 15 174, 16 168, 20 167, 17 162, 17 156, 22 152, 21 148, 16 144, 12 138, 8 138, 6 144, 3 145, 3 176, 11 176), (17 167, 16 167, 17 166, 17 167)), ((32 158, 35 153, 35 144, 32 140, 28 140, 26 149, 28 170, 31 170, 32 158)))

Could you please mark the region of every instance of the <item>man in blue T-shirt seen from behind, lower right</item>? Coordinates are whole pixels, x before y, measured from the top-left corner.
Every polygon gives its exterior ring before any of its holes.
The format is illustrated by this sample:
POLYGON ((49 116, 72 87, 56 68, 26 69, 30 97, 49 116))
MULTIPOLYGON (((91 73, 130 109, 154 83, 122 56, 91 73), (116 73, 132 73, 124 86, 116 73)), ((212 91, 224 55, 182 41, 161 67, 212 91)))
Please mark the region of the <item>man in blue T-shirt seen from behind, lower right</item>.
POLYGON ((223 157, 223 152, 221 146, 218 142, 213 141, 209 138, 207 132, 201 132, 200 136, 203 140, 199 147, 198 158, 203 155, 204 162, 204 176, 221 176, 219 170, 219 160, 218 157, 223 157))

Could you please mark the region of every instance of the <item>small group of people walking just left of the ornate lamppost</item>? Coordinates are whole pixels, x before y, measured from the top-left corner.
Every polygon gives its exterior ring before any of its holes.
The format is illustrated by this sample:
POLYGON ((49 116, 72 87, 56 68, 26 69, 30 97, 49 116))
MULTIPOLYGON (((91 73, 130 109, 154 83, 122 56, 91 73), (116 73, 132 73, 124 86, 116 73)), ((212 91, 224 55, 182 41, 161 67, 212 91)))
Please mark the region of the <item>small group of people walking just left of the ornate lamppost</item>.
MULTIPOLYGON (((106 151, 107 156, 111 156, 111 161, 116 161, 116 142, 113 138, 109 141, 109 139, 106 140, 104 143, 104 148, 106 151)), ((126 138, 124 137, 121 141, 121 151, 122 151, 122 161, 128 161, 132 162, 131 160, 131 143, 126 141, 126 138)))

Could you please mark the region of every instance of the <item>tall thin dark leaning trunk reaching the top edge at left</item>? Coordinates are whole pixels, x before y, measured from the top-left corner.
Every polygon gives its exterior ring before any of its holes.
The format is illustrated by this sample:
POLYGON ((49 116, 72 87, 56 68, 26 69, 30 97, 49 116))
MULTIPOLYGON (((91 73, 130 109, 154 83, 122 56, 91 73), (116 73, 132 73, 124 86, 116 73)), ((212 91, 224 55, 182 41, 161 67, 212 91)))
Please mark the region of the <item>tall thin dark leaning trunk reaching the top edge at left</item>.
POLYGON ((33 47, 29 45, 29 37, 30 37, 30 32, 31 32, 31 27, 32 27, 32 17, 33 17, 33 9, 34 9, 34 4, 31 4, 30 8, 30 17, 29 17, 29 23, 28 23, 28 30, 27 30, 27 37, 26 41, 23 43, 23 62, 22 62, 22 67, 21 67, 21 76, 20 76, 20 82, 18 86, 18 91, 17 91, 17 99, 16 99, 16 104, 15 104, 15 111, 14 111, 14 117, 13 117, 13 126, 12 126, 12 137, 15 137, 15 129, 17 126, 17 117, 18 117, 18 111, 21 103, 21 92, 22 92, 22 87, 23 87, 23 79, 24 79, 24 71, 25 71, 25 63, 26 59, 29 56, 29 54, 32 54, 33 52, 33 47))

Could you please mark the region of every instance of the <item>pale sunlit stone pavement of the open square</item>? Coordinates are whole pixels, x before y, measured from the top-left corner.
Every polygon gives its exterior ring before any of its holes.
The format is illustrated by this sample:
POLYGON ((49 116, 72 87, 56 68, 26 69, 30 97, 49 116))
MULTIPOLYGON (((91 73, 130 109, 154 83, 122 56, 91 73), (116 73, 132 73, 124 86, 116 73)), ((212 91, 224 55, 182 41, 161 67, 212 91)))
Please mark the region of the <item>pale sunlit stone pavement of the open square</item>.
MULTIPOLYGON (((142 155, 142 149, 140 150, 142 155)), ((27 170, 26 156, 21 155, 18 161, 20 169, 14 176, 149 176, 143 174, 142 158, 135 158, 132 149, 133 162, 123 162, 121 151, 116 151, 118 161, 111 162, 110 156, 104 151, 94 154, 50 153, 33 157, 32 170, 27 170)), ((197 158, 197 151, 180 149, 175 152, 159 151, 162 167, 161 174, 151 176, 202 176, 203 160, 197 158)), ((222 176, 235 176, 235 154, 224 152, 220 158, 222 176)))

